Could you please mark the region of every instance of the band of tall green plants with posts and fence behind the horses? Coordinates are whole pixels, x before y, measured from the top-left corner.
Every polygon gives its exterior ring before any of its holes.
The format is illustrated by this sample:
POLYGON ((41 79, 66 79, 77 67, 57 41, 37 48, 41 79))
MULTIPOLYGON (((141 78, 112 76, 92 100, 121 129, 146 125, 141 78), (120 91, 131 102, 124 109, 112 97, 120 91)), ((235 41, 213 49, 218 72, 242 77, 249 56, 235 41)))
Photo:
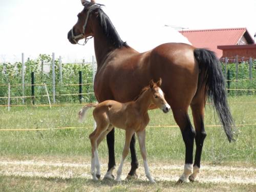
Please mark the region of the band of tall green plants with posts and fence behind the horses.
MULTIPOLYGON (((234 56, 221 59, 221 63, 228 95, 255 94, 255 60, 234 56)), ((55 59, 54 54, 26 62, 0 63, 0 106, 93 102, 95 71, 94 58, 92 62, 62 63, 61 57, 55 59)))

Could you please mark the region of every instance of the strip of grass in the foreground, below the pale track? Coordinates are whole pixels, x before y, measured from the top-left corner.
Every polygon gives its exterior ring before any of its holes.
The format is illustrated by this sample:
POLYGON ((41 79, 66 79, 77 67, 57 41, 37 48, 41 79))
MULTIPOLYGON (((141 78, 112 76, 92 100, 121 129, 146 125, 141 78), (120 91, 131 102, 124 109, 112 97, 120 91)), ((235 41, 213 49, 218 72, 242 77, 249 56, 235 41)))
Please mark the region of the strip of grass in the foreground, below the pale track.
POLYGON ((44 179, 26 177, 1 177, 0 191, 255 191, 253 184, 185 183, 159 181, 156 185, 147 181, 97 181, 91 179, 44 179))

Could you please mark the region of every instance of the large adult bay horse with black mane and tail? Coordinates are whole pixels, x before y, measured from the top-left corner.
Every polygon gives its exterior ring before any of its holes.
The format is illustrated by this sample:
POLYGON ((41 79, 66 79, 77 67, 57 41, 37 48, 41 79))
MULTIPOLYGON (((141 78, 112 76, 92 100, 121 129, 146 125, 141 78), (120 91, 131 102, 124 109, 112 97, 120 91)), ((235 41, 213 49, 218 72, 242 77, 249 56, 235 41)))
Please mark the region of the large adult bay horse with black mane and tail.
MULTIPOLYGON (((89 36, 94 37, 97 73, 94 93, 99 102, 133 100, 151 79, 163 80, 161 89, 172 108, 174 119, 180 127, 185 143, 184 172, 178 182, 195 181, 201 161, 206 100, 215 106, 229 141, 233 140, 233 120, 227 104, 225 79, 214 52, 197 49, 187 44, 167 43, 153 50, 139 53, 119 37, 110 18, 95 1, 81 0, 83 10, 78 13, 77 23, 68 33, 72 44, 89 36), (188 116, 191 107, 195 130, 188 116), (193 147, 196 155, 193 165, 193 147)), ((151 106, 154 109, 155 106, 151 106)), ((114 129, 107 135, 109 164, 106 178, 113 178, 115 167, 114 129)), ((138 168, 135 153, 135 136, 130 143, 132 156, 129 176, 136 176, 138 168)), ((129 177, 128 176, 128 177, 129 177)))

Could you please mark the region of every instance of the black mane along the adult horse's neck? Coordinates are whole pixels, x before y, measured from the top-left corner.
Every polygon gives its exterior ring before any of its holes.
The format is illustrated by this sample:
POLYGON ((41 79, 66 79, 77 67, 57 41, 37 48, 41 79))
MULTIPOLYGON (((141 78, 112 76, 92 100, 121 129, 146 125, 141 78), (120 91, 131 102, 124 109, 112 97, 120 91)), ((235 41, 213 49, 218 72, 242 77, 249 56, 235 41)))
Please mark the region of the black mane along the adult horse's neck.
POLYGON ((122 48, 122 47, 128 47, 126 42, 123 42, 120 36, 118 35, 114 25, 112 24, 110 18, 108 15, 104 13, 104 11, 101 9, 101 4, 89 4, 88 6, 84 7, 84 10, 88 11, 97 11, 98 17, 99 17, 99 24, 102 27, 105 35, 109 38, 111 44, 115 48, 122 48))

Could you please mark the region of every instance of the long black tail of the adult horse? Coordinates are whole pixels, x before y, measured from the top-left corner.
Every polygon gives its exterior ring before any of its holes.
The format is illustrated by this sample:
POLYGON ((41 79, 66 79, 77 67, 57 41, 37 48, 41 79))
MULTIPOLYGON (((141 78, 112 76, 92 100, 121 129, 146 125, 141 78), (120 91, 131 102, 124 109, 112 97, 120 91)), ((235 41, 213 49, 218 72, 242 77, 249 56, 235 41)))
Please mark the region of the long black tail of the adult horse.
POLYGON ((233 119, 227 103, 225 78, 222 74, 220 61, 214 52, 207 49, 195 49, 194 56, 199 65, 204 66, 206 69, 205 98, 207 97, 208 102, 215 106, 228 141, 231 142, 234 140, 232 132, 233 119))

